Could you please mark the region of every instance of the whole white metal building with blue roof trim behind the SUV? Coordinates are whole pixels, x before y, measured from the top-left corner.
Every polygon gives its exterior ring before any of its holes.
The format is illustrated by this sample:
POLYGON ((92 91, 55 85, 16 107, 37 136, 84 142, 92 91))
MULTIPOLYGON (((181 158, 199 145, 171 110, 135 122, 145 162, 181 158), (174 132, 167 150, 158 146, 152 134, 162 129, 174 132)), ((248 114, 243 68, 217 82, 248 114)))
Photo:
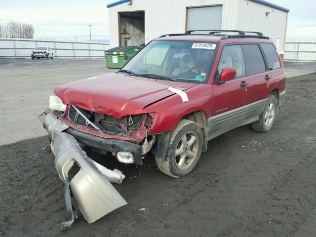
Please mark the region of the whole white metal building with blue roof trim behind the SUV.
POLYGON ((110 47, 186 30, 258 31, 283 54, 288 9, 264 0, 119 0, 108 4, 110 47))

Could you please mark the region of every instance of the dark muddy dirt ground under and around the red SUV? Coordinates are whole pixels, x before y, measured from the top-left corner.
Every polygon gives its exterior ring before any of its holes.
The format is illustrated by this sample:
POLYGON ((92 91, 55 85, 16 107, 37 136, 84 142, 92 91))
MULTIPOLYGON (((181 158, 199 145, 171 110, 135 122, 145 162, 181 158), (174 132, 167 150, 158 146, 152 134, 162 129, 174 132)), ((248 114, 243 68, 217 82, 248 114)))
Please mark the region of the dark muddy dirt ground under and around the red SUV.
POLYGON ((0 147, 0 236, 316 236, 316 74, 288 79, 286 90, 269 133, 221 135, 184 178, 160 173, 153 156, 138 167, 94 156, 126 175, 115 187, 128 205, 90 225, 80 215, 66 232, 48 137, 0 147))

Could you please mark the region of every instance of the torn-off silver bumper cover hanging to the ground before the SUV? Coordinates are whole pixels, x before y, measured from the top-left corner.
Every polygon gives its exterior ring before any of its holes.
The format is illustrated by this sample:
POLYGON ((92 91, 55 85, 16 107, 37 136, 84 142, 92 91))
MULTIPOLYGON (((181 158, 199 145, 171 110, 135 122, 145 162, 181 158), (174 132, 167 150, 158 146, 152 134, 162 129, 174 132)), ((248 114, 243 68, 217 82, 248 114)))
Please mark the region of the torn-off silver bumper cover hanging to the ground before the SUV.
POLYGON ((119 170, 109 170, 88 158, 75 137, 63 132, 68 126, 53 113, 46 110, 39 119, 53 141, 51 147, 56 156, 55 167, 60 179, 65 183, 66 207, 72 214, 71 220, 61 223, 62 230, 69 229, 77 219, 77 213, 71 204, 70 190, 88 223, 93 223, 127 204, 110 183, 122 182, 125 176, 119 170), (69 171, 74 165, 77 169, 70 177, 69 171))

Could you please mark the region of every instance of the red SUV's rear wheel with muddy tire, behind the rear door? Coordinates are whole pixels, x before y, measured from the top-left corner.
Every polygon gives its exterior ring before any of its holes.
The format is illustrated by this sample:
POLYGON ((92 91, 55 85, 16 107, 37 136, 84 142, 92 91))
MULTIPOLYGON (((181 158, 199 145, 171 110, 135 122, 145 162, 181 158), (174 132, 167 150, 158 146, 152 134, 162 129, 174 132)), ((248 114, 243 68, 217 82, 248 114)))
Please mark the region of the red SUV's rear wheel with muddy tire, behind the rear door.
POLYGON ((259 120, 251 123, 251 128, 257 132, 268 132, 276 120, 277 101, 276 96, 269 95, 266 107, 259 116, 259 120))

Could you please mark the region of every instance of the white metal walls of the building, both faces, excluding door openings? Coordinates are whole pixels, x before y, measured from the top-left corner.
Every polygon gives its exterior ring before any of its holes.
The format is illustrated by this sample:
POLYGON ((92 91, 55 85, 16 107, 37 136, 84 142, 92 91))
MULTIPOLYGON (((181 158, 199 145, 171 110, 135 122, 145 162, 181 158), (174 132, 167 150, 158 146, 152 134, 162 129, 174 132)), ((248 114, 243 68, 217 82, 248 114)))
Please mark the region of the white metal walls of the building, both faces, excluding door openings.
POLYGON ((109 8, 110 47, 118 46, 118 12, 145 11, 145 43, 168 33, 184 33, 186 7, 223 5, 222 29, 260 31, 281 38, 284 50, 287 13, 251 0, 133 0, 109 8), (272 12, 273 10, 273 12, 272 12), (266 12, 271 14, 266 17, 266 12), (263 24, 262 22, 267 24, 263 24))

